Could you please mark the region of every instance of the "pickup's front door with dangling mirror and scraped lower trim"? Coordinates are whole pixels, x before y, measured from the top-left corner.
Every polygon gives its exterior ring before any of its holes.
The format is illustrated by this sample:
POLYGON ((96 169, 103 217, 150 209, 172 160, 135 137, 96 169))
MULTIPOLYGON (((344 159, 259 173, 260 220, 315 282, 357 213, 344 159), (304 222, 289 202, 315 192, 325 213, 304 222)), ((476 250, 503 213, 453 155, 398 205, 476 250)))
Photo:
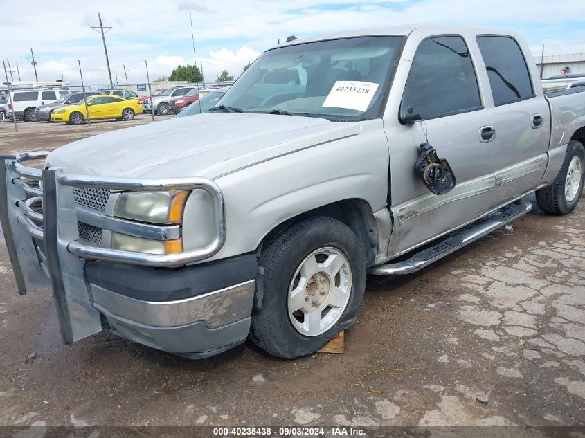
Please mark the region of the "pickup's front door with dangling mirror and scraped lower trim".
POLYGON ((496 204, 492 139, 481 136, 492 123, 485 111, 485 75, 478 74, 478 53, 472 50, 474 37, 426 37, 415 30, 406 42, 384 118, 395 220, 390 257, 458 228, 496 204), (422 121, 401 124, 398 115, 406 109, 422 121), (427 141, 456 176, 455 188, 445 194, 430 192, 415 172, 419 145, 427 141))

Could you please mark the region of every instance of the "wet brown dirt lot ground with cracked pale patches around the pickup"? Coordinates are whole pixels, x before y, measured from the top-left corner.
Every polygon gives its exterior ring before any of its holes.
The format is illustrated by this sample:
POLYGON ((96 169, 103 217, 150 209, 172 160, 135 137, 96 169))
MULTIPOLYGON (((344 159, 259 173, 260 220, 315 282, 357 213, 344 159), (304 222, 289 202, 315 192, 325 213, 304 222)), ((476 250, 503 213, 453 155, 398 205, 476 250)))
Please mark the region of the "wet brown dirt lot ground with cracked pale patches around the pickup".
MULTIPOLYGON (((149 120, 3 122, 0 153, 149 120)), ((369 277, 345 353, 296 361, 249 342, 204 361, 108 333, 62 345, 51 292, 18 295, 3 245, 0 279, 4 426, 585 423, 585 199, 415 275, 369 277)))

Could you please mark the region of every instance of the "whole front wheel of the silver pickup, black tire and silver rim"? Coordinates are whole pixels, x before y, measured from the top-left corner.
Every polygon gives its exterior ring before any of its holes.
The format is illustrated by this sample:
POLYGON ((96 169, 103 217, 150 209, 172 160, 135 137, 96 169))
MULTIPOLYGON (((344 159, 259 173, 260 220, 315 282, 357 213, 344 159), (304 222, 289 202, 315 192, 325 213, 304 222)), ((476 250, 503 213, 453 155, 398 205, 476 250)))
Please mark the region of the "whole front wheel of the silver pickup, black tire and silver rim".
POLYGON ((264 243, 258 266, 249 336, 266 352, 307 356, 353 325, 366 289, 366 257, 345 224, 330 217, 293 223, 264 243), (323 267, 330 259, 341 266, 330 269, 334 276, 323 267))

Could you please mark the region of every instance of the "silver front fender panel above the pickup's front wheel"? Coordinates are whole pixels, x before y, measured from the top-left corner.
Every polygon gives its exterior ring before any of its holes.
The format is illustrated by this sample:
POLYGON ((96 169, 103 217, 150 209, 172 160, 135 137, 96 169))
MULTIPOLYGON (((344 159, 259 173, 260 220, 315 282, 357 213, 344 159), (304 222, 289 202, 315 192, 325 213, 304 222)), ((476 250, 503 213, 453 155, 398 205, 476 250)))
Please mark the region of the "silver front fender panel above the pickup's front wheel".
MULTIPOLYGON (((386 206, 388 143, 381 120, 363 122, 361 134, 279 156, 215 181, 226 203, 221 259, 258 248, 280 223, 345 199, 362 199, 372 211, 386 206)), ((192 227, 183 239, 197 239, 192 227)))

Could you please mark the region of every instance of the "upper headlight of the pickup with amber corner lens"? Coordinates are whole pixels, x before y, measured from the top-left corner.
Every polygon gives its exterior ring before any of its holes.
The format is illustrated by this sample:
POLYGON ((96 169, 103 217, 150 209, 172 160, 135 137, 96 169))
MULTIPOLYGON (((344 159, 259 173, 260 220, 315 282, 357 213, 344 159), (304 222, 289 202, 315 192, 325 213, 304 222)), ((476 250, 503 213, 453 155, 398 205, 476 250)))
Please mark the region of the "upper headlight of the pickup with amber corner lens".
POLYGON ((179 223, 188 192, 124 192, 116 201, 114 216, 149 223, 179 223))

